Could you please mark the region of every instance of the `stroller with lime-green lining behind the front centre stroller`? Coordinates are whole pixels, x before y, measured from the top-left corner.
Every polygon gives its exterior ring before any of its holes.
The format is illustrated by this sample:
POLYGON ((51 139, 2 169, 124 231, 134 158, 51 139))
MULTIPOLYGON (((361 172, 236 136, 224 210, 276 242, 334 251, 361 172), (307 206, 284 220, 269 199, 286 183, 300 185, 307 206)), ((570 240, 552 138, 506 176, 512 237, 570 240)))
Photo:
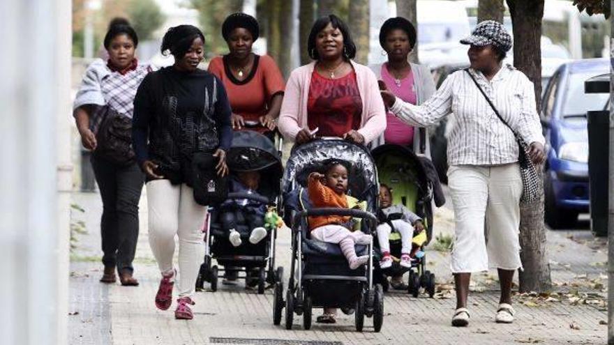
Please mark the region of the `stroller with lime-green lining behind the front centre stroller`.
MULTIPOLYGON (((426 244, 433 236, 433 185, 428 181, 422 160, 410 148, 400 145, 386 144, 378 146, 371 151, 380 183, 385 183, 393 192, 392 204, 402 204, 413 213, 422 218, 426 229, 426 244)), ((377 243, 377 242, 376 242, 377 243)), ((424 250, 422 245, 421 250, 424 250)), ((418 297, 420 288, 423 287, 428 296, 435 294, 435 275, 426 270, 426 254, 421 258, 415 258, 412 268, 404 268, 398 263, 401 252, 400 234, 393 231, 390 234, 390 253, 393 256, 393 264, 390 268, 380 268, 379 260, 375 262, 375 282, 379 282, 388 290, 387 277, 403 275, 409 271, 407 292, 418 297), (415 271, 414 271, 415 269, 415 271)), ((375 250, 379 259, 381 252, 379 245, 375 250)))

